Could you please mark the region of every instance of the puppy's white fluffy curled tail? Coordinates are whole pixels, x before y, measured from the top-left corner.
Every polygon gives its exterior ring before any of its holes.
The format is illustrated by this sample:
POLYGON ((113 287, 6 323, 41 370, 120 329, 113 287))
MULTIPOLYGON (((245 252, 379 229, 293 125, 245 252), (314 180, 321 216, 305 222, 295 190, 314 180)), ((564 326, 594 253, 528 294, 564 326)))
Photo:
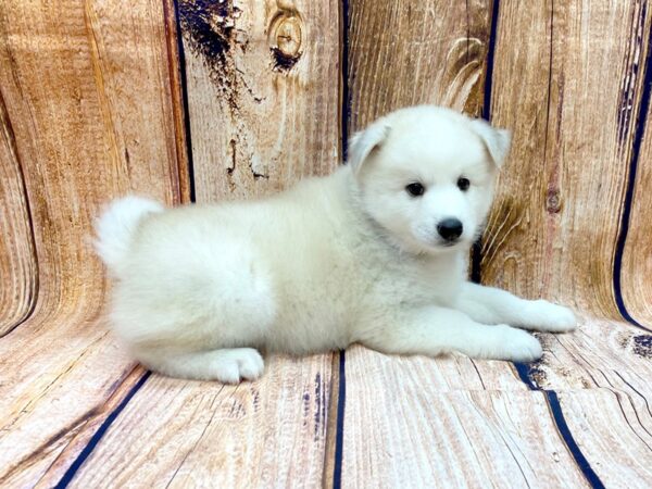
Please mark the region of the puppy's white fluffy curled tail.
POLYGON ((106 266, 115 271, 129 251, 138 223, 147 214, 163 211, 153 200, 129 196, 114 200, 96 221, 96 250, 106 266))

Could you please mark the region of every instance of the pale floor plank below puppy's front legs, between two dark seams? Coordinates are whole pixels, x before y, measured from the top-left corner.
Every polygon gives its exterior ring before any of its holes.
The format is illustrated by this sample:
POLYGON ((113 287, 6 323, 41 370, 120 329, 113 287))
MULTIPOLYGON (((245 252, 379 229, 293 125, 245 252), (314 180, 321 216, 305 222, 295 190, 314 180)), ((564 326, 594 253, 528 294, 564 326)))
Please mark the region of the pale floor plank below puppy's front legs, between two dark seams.
POLYGON ((586 486, 542 392, 441 385, 429 374, 451 359, 383 356, 347 352, 342 487, 586 486))

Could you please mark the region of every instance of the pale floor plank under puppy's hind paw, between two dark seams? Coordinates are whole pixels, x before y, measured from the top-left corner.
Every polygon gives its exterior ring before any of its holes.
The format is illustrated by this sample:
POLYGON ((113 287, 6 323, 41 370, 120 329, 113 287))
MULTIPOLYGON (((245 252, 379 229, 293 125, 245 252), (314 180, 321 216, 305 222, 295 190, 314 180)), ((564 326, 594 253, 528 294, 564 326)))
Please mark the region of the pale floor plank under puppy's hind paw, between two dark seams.
POLYGON ((321 487, 330 366, 274 356, 235 387, 153 376, 72 487, 321 487))

